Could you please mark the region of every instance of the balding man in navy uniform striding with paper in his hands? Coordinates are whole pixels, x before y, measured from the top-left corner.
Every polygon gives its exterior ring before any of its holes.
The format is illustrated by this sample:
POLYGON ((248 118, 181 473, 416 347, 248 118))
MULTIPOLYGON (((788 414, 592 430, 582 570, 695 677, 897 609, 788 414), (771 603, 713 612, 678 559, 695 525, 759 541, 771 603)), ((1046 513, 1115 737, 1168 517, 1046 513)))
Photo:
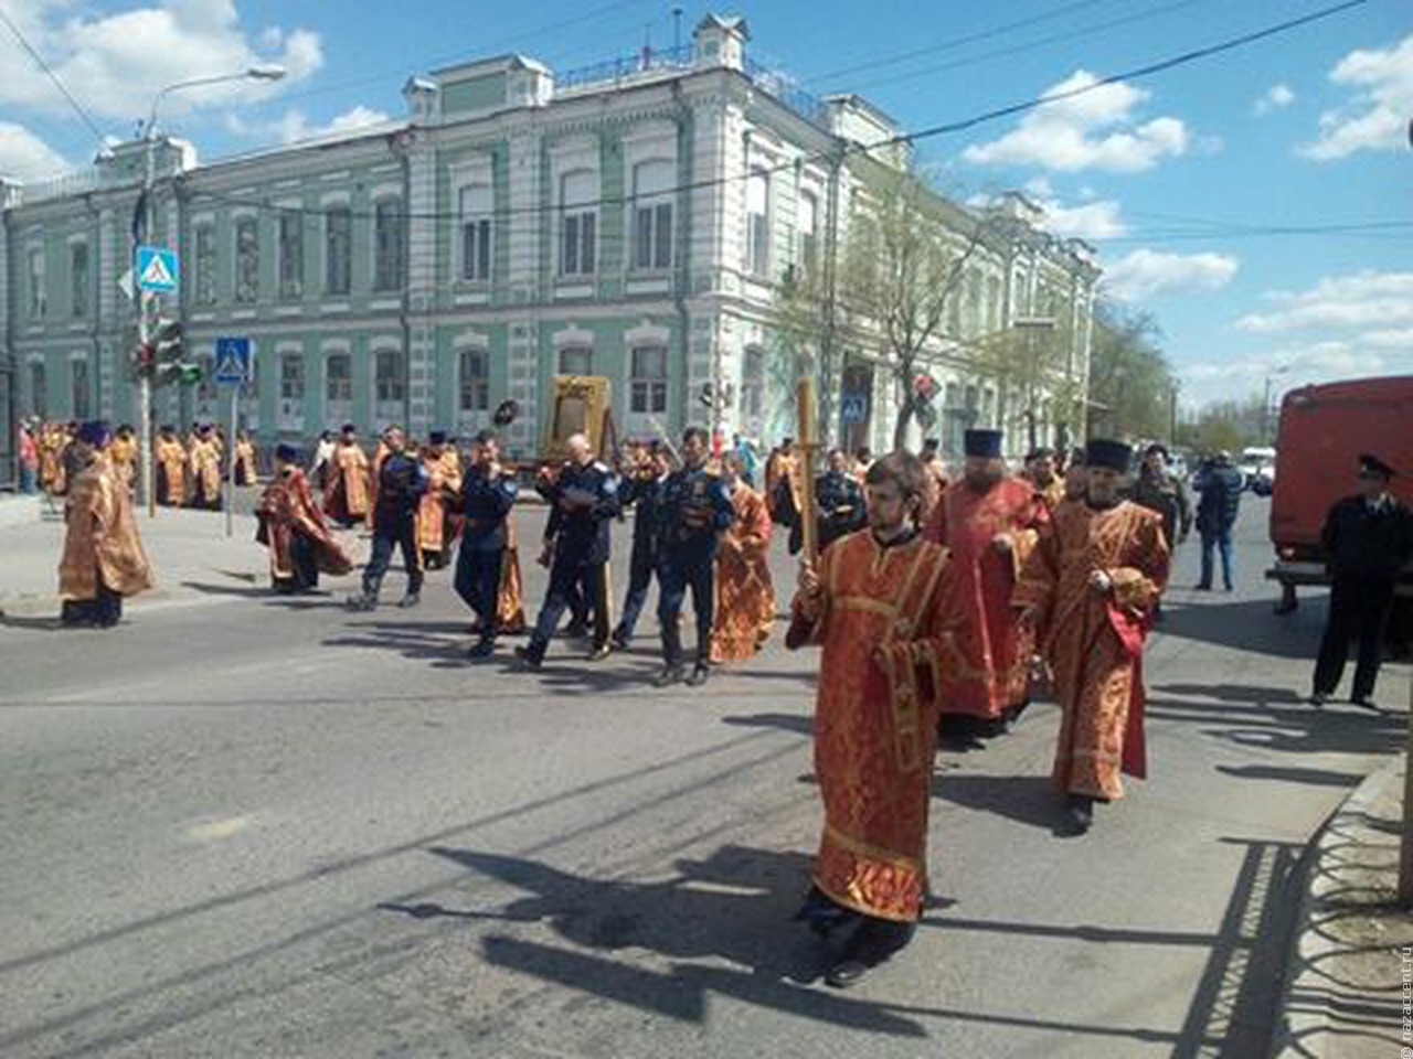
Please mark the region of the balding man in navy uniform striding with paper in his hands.
POLYGON ((554 559, 550 565, 550 590, 545 593, 540 618, 530 634, 527 647, 516 648, 526 669, 538 669, 544 652, 560 627, 560 618, 569 604, 569 593, 578 586, 593 610, 593 648, 589 661, 609 655, 609 524, 617 514, 617 477, 593 459, 589 439, 582 433, 565 442, 569 465, 552 486, 545 487, 545 498, 552 504, 545 528, 547 544, 554 559))

